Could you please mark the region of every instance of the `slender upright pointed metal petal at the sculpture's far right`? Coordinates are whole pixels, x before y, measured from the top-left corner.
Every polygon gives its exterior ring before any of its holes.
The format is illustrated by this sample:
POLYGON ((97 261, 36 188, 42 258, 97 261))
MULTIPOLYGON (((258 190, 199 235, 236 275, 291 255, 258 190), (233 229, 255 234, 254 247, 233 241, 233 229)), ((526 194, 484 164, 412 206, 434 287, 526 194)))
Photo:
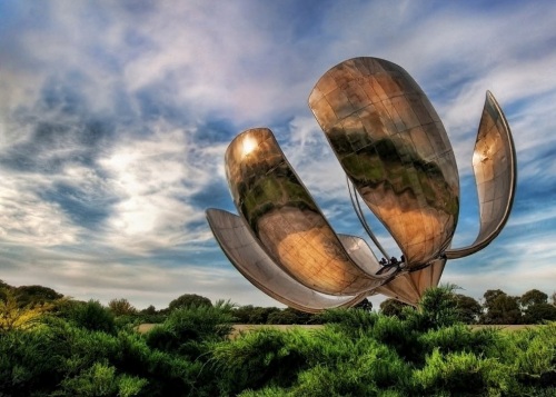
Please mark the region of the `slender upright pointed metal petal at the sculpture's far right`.
POLYGON ((509 125, 494 96, 487 91, 473 153, 473 170, 479 199, 480 229, 475 241, 448 249, 448 259, 485 248, 502 231, 514 202, 517 180, 516 151, 509 125))

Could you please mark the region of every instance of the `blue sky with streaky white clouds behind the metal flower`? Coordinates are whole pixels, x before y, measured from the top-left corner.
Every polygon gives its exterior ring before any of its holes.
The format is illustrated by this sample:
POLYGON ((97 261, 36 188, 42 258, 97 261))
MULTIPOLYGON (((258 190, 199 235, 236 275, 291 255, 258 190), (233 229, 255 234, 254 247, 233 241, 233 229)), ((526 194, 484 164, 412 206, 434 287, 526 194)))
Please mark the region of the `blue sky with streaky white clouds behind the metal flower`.
POLYGON ((446 127, 461 187, 453 247, 478 232, 471 155, 486 90, 513 131, 512 216, 487 248, 448 261, 441 282, 476 299, 550 295, 555 20, 548 0, 3 0, 0 279, 139 309, 182 294, 281 307, 206 221, 210 207, 237 214, 225 150, 245 129, 270 128, 335 230, 365 237, 307 99, 329 68, 367 56, 405 68, 446 127))

